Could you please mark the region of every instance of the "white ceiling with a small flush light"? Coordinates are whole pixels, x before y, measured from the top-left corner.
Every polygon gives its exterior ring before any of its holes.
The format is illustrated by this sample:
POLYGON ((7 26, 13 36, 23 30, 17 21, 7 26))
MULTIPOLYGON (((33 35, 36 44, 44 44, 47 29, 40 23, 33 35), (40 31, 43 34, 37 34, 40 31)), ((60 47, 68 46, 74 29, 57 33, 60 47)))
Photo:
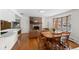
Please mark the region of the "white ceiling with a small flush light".
POLYGON ((63 12, 67 12, 71 9, 16 9, 17 12, 23 16, 54 16, 63 12), (45 11, 40 13, 40 11, 45 11))

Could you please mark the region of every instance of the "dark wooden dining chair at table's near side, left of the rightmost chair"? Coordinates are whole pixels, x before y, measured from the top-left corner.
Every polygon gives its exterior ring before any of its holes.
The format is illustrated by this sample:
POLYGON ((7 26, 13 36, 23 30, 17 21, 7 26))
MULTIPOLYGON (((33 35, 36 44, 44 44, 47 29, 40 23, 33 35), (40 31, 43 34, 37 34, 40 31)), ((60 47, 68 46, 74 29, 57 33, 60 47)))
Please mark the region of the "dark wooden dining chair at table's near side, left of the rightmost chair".
POLYGON ((61 44, 61 36, 62 36, 62 33, 53 33, 52 44, 55 50, 63 49, 63 46, 61 44))

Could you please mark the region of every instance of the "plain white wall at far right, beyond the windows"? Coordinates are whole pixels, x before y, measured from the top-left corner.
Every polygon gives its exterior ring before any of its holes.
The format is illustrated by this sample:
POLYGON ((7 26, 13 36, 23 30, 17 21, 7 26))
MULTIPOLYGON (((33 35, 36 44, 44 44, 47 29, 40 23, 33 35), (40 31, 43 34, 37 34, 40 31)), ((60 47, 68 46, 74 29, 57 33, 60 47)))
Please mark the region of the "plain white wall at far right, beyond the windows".
POLYGON ((79 10, 74 10, 71 16, 71 37, 79 43, 79 10))

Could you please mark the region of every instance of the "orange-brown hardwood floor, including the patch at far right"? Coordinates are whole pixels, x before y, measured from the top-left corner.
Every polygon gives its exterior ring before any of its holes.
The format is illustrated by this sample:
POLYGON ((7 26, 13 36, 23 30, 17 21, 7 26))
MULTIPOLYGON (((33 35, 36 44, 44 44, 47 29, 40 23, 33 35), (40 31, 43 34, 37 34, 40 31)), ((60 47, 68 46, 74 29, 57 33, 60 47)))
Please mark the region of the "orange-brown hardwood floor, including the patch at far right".
MULTIPOLYGON (((79 45, 73 41, 68 41, 70 48, 79 47, 79 45)), ((22 34, 19 37, 18 42, 15 44, 16 48, 13 50, 40 50, 38 39, 32 38, 29 39, 28 34, 22 34)))

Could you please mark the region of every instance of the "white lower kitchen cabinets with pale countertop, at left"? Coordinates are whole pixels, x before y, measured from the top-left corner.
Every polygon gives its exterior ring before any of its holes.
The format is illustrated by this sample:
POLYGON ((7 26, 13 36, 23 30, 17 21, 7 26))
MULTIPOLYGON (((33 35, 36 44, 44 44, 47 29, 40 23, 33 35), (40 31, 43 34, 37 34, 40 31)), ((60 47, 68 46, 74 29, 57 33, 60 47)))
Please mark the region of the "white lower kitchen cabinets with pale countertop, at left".
POLYGON ((5 37, 0 38, 0 50, 10 50, 18 40, 17 32, 7 33, 5 37))

